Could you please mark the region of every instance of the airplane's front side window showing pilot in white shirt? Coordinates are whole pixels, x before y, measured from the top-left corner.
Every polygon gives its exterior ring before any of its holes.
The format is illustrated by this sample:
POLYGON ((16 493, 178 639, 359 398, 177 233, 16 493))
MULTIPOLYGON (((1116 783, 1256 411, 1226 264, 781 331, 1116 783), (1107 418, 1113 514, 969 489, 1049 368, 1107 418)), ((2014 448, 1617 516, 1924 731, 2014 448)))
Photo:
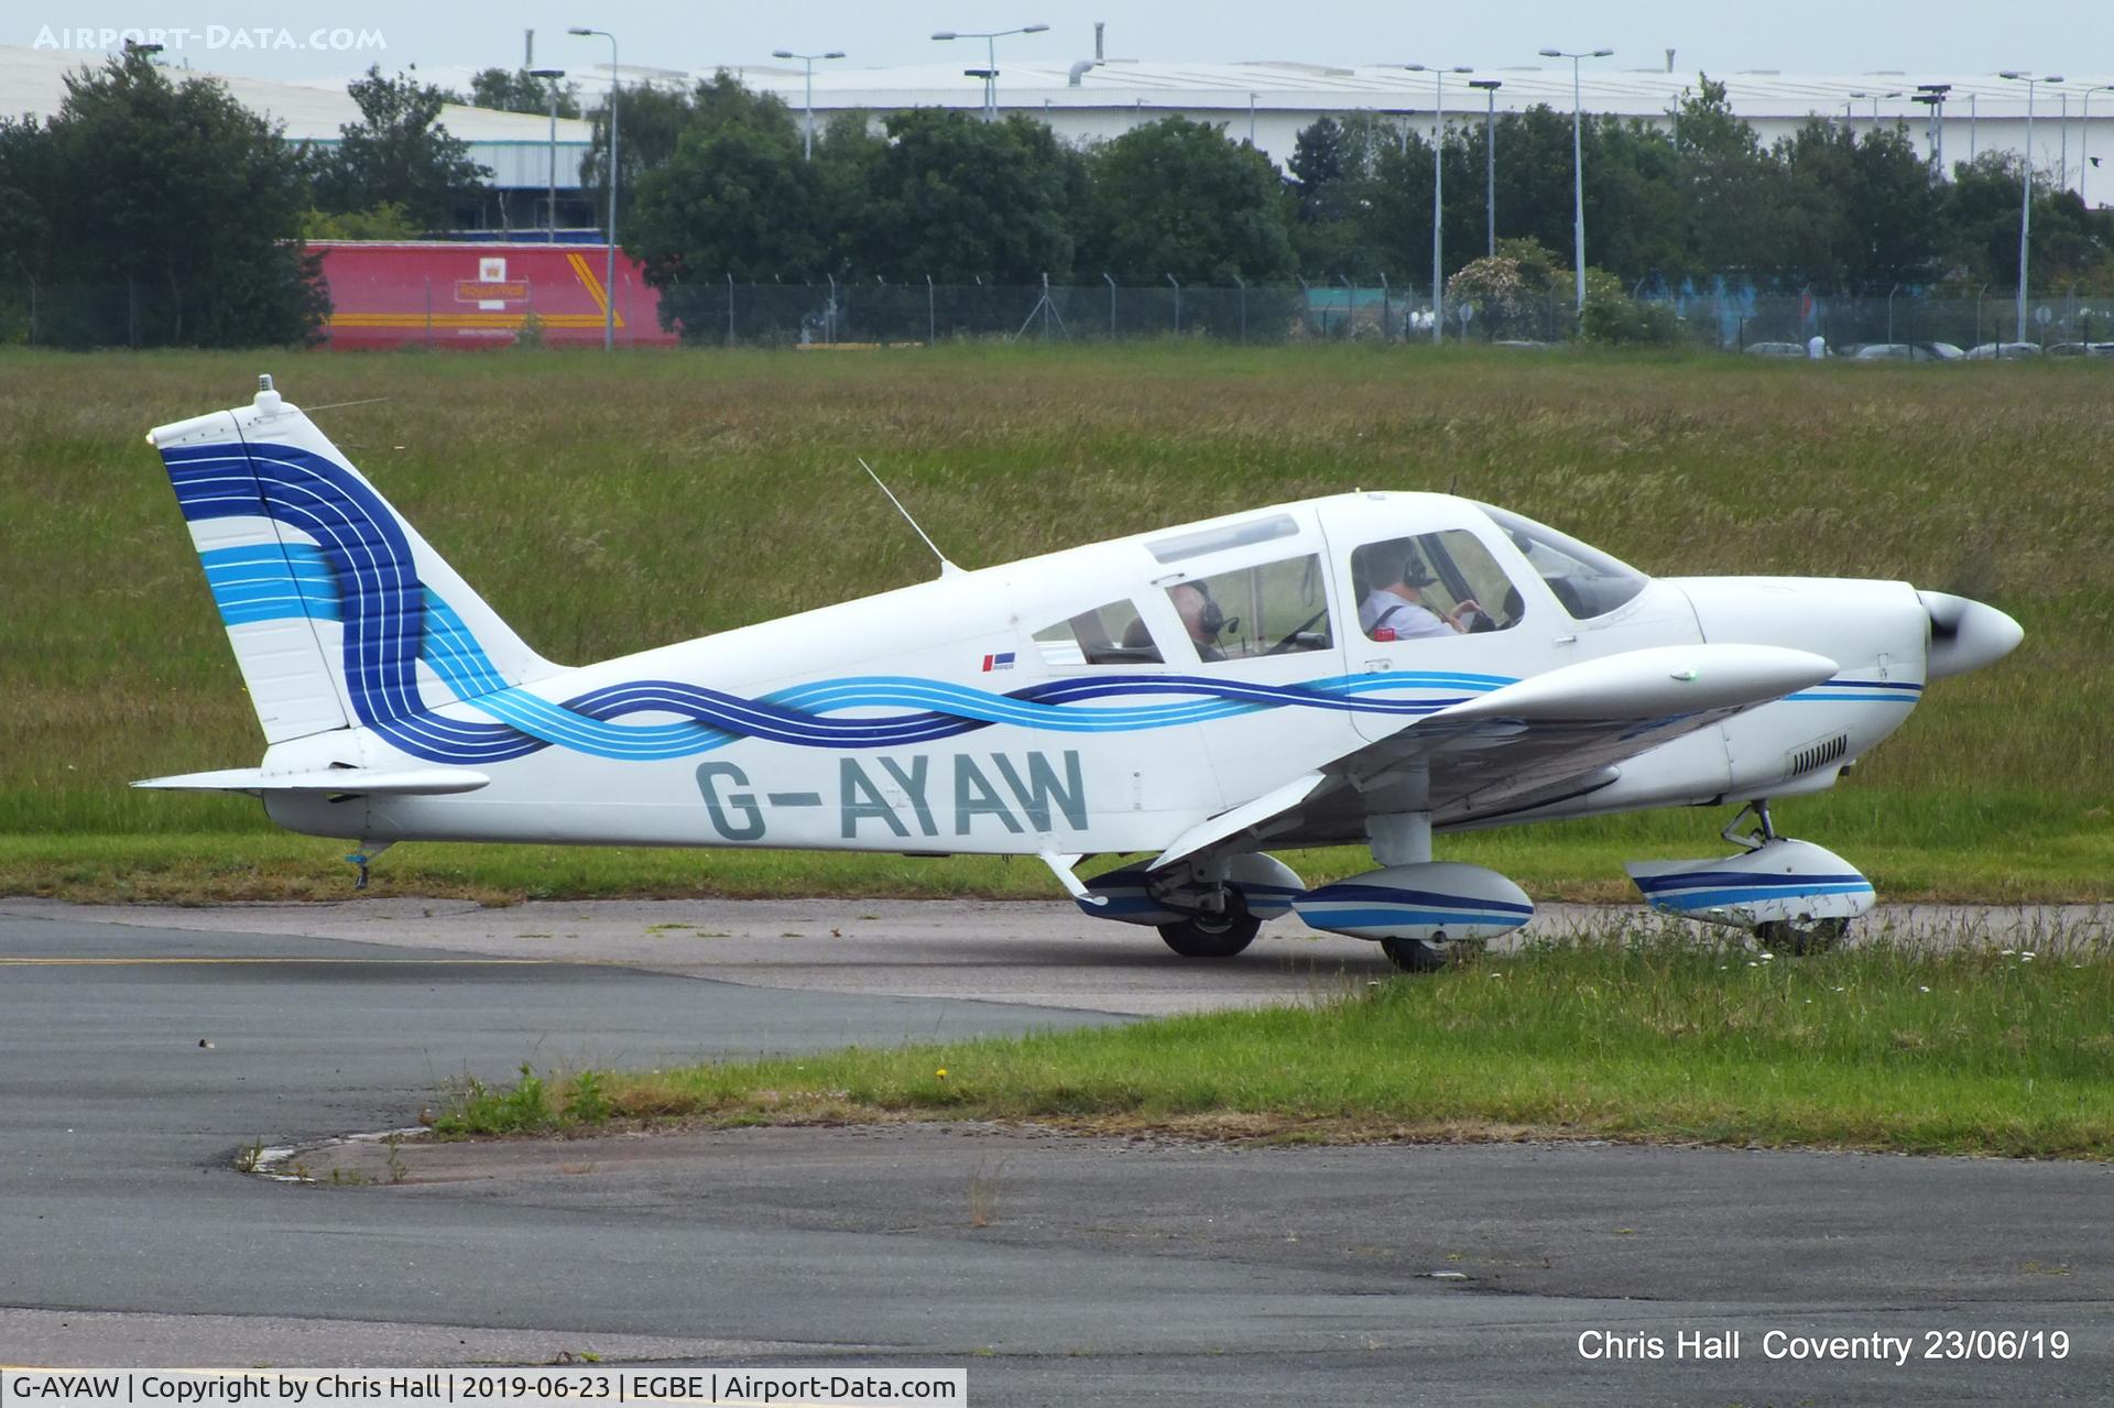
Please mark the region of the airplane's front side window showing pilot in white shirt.
POLYGON ((1351 583, 1368 641, 1509 630, 1526 613, 1505 569, 1465 529, 1366 543, 1351 554, 1351 583))

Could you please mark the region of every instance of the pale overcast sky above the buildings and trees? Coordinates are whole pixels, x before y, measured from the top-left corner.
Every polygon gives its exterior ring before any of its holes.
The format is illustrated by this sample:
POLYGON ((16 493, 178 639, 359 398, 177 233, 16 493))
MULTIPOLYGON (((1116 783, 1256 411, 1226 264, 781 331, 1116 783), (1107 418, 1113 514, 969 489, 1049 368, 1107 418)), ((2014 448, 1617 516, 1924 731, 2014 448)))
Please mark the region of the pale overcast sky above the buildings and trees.
MULTIPOLYGON (((1000 40, 1008 57, 1065 63, 1093 55, 1093 21, 1108 21, 1108 57, 1158 61, 1292 59, 1306 63, 1543 63, 1537 49, 1613 49, 1609 68, 1681 72, 1930 72, 1994 68, 2044 72, 2084 63, 2114 70, 2114 0, 2042 0, 2021 11, 1987 0, 808 0, 715 6, 696 0, 13 0, 0 44, 99 53, 118 30, 161 30, 165 59, 224 74, 281 80, 347 78, 383 70, 518 66, 522 30, 537 30, 537 61, 586 68, 607 40, 569 25, 615 32, 626 66, 710 70, 769 63, 774 49, 841 49, 846 66, 888 68, 941 57, 934 30, 1051 25, 1000 40), (2019 17, 2015 30, 1996 34, 2019 17), (2093 61, 2097 59, 2097 63, 2093 61)), ((154 36, 148 36, 150 40, 154 36)), ((964 63, 981 55, 947 47, 964 63)), ((0 112, 8 110, 0 93, 0 112)))

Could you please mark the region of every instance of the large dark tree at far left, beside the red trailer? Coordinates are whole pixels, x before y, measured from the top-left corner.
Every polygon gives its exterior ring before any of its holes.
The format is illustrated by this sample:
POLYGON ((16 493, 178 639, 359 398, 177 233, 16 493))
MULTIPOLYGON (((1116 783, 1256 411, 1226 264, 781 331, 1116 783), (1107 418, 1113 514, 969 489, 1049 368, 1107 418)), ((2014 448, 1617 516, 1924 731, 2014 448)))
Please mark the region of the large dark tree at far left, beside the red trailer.
POLYGON ((328 298, 298 239, 304 205, 279 127, 140 51, 68 74, 49 123, 0 123, 0 264, 123 290, 99 315, 47 319, 55 340, 309 338, 328 298))

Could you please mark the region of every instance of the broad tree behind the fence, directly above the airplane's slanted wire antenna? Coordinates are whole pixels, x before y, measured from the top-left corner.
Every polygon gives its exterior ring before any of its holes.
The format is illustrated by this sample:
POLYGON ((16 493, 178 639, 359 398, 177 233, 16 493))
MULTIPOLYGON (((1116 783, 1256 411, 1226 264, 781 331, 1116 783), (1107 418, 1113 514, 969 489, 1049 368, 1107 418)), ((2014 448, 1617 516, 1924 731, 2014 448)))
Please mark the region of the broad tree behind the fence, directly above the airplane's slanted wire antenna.
POLYGON ((896 112, 869 167, 865 209, 848 224, 856 268, 939 283, 1068 279, 1074 163, 1046 125, 1019 114, 985 123, 943 108, 896 112))

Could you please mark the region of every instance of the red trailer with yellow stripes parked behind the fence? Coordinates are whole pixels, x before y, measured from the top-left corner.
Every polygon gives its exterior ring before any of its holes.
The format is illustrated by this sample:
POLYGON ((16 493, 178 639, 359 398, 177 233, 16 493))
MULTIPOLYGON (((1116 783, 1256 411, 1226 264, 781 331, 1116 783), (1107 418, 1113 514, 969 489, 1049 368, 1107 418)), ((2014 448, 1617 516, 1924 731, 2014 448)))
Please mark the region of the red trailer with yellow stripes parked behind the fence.
MULTIPOLYGON (((552 347, 600 347, 607 245, 311 241, 332 347, 512 347, 533 315, 552 347)), ((660 294, 617 252, 617 345, 674 347, 660 294)))

